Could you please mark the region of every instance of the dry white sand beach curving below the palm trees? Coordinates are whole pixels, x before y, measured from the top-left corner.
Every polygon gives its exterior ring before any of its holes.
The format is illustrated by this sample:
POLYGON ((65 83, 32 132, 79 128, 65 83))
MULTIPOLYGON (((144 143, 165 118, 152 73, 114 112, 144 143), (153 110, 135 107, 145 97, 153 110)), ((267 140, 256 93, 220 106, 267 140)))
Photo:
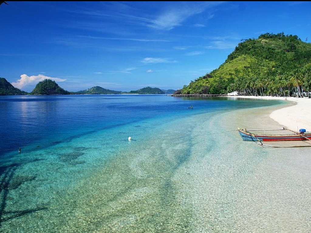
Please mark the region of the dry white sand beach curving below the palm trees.
POLYGON ((236 98, 253 98, 266 100, 284 100, 292 102, 293 105, 274 110, 269 117, 280 125, 294 131, 306 129, 311 131, 311 99, 304 97, 273 97, 273 96, 234 96, 236 98))

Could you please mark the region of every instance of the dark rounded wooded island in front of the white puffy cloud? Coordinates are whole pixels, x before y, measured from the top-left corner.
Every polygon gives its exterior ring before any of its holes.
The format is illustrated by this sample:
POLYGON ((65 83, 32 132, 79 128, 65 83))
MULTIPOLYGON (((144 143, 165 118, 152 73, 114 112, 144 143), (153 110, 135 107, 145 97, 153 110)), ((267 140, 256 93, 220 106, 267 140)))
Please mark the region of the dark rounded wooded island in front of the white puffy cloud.
POLYGON ((30 92, 31 95, 70 95, 69 91, 59 87, 58 84, 50 79, 39 82, 35 89, 30 92))

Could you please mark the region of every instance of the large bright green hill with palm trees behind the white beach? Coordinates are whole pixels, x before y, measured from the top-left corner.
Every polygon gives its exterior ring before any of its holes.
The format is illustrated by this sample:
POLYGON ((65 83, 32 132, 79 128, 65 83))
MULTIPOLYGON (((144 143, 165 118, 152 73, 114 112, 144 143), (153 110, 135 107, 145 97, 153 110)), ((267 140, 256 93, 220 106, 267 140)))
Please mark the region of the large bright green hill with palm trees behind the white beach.
POLYGON ((175 94, 302 96, 311 91, 311 44, 296 35, 262 34, 239 43, 219 68, 175 94))

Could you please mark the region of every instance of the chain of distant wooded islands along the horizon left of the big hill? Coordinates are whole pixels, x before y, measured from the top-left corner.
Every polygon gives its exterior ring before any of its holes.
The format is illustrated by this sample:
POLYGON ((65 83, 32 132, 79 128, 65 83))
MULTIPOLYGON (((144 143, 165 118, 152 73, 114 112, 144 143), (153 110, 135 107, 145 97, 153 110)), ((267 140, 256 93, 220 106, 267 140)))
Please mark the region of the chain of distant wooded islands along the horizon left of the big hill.
POLYGON ((99 86, 77 92, 69 92, 61 88, 55 81, 45 79, 40 81, 30 92, 21 91, 14 87, 5 78, 0 78, 0 95, 75 95, 75 94, 173 94, 176 90, 161 90, 159 88, 145 87, 136 91, 123 92, 104 89, 99 86))

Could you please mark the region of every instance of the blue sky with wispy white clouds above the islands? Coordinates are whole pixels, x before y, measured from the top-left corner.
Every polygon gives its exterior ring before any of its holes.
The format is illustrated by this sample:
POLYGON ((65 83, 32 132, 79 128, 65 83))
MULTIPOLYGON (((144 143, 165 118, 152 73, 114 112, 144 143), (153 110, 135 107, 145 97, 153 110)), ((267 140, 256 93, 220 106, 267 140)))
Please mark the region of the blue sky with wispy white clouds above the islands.
POLYGON ((311 2, 14 2, 0 5, 0 77, 30 92, 180 89, 243 39, 311 41, 311 2))

